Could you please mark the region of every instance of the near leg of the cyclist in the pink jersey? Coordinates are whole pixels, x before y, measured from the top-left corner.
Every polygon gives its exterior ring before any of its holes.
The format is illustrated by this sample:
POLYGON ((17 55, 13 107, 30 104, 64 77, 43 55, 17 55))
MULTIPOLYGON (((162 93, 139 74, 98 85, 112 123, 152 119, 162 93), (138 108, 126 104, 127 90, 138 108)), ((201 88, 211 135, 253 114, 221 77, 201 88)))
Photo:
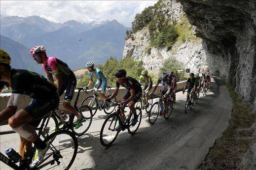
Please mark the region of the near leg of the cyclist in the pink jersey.
POLYGON ((67 83, 66 93, 64 97, 63 107, 74 114, 77 118, 81 118, 80 114, 71 105, 71 100, 73 99, 74 89, 76 86, 76 79, 69 80, 67 83))

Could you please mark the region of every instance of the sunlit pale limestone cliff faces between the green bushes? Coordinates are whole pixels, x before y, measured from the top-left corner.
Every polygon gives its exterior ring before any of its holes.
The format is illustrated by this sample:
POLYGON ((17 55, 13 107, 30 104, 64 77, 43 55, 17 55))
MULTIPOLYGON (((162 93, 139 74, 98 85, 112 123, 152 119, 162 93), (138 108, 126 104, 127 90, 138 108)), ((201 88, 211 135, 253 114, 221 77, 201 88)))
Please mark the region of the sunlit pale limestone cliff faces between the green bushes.
MULTIPOLYGON (((163 0, 162 2, 169 8, 166 17, 170 22, 174 20, 181 22, 181 16, 184 15, 181 3, 175 0, 163 0)), ((190 68, 191 71, 207 67, 206 53, 200 39, 198 41, 176 42, 172 50, 167 51, 165 48, 151 47, 148 37, 147 27, 133 33, 133 38, 129 38, 125 42, 123 57, 141 60, 144 62, 145 68, 152 70, 159 70, 164 59, 168 57, 176 57, 184 63, 185 68, 190 68)))

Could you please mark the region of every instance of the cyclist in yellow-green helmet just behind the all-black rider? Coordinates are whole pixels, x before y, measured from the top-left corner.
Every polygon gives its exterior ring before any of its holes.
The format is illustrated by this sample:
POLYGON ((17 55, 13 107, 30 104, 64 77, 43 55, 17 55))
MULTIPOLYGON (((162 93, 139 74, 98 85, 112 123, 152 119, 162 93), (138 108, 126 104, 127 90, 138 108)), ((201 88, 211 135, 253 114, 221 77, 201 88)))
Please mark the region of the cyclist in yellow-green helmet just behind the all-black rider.
POLYGON ((151 77, 147 74, 148 74, 147 70, 143 70, 142 75, 141 75, 140 80, 139 80, 139 83, 141 85, 143 85, 142 89, 143 89, 143 92, 145 93, 143 95, 143 98, 146 97, 146 102, 144 103, 144 108, 147 108, 149 106, 149 104, 148 104, 148 92, 150 91, 150 89, 152 88, 152 85, 153 85, 151 77))

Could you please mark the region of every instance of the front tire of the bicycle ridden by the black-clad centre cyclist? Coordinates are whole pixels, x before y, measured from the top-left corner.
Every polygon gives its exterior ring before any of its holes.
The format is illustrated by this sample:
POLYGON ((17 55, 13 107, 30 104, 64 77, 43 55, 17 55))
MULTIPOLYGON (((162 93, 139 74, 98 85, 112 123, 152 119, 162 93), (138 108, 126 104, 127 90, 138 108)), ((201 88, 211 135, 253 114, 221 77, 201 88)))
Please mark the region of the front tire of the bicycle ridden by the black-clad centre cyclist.
POLYGON ((117 138, 117 136, 118 136, 118 134, 119 134, 119 132, 120 131, 115 131, 115 128, 117 127, 117 126, 119 126, 119 120, 118 120, 118 117, 117 117, 117 113, 116 112, 114 112, 114 113, 111 113, 107 118, 106 118, 106 120, 104 121, 104 123, 103 123, 103 125, 102 125, 102 127, 101 127, 101 132, 100 132, 100 142, 101 142, 101 144, 103 145, 103 146, 105 146, 105 147, 109 147, 115 140, 116 140, 116 138, 117 138), (111 120, 110 120, 110 118, 112 118, 111 120), (110 123, 110 126, 112 125, 112 123, 114 123, 113 125, 113 129, 111 129, 110 130, 110 127, 109 128, 107 128, 109 131, 112 131, 112 132, 115 132, 116 134, 115 134, 115 136, 114 136, 114 138, 110 141, 110 142, 108 142, 108 140, 105 138, 105 134, 103 134, 104 133, 104 129, 105 129, 105 126, 106 126, 106 124, 109 122, 109 120, 111 121, 111 123, 110 123), (107 143, 107 142, 108 143, 107 143))

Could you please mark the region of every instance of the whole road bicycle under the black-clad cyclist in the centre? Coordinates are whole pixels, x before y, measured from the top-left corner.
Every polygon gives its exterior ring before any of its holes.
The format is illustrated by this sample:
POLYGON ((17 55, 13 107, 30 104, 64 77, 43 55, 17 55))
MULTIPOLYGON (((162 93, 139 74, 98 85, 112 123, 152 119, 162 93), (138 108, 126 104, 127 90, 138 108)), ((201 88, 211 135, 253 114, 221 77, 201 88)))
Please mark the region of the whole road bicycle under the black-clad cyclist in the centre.
POLYGON ((135 109, 136 114, 138 115, 138 122, 134 126, 132 126, 134 114, 132 114, 130 111, 128 115, 124 114, 124 116, 122 116, 121 113, 126 113, 124 111, 124 108, 122 107, 122 104, 114 104, 118 106, 116 111, 114 113, 111 113, 106 118, 101 128, 100 141, 101 144, 105 147, 110 146, 116 140, 121 130, 124 131, 125 129, 127 129, 129 134, 134 135, 139 129, 142 120, 141 108, 137 107, 135 109))

